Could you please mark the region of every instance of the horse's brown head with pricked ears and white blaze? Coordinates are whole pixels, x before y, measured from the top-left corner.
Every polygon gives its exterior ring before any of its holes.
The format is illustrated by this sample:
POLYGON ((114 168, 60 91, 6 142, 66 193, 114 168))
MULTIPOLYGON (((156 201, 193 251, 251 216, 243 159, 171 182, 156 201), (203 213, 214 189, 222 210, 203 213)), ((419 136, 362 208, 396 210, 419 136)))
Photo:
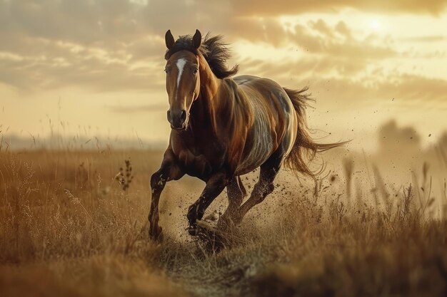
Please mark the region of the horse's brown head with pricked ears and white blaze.
MULTIPOLYGON (((201 33, 196 30, 188 47, 197 51, 201 40, 201 33)), ((166 47, 171 50, 175 41, 170 30, 166 32, 165 41, 166 47)), ((165 71, 169 97, 168 121, 171 128, 184 130, 188 127, 191 105, 199 96, 199 57, 193 51, 176 51, 168 58, 165 71)))

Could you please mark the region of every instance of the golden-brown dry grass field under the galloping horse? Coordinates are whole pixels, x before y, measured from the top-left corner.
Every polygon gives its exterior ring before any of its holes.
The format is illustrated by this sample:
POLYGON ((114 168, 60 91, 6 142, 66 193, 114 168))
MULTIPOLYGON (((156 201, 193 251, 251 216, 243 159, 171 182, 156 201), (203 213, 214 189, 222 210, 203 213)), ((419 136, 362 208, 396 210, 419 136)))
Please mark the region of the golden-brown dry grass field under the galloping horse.
POLYGON ((148 239, 161 152, 0 152, 0 296, 447 296, 445 160, 387 182, 333 155, 316 184, 283 172, 214 253, 184 230, 192 178, 166 186, 165 239, 148 239))

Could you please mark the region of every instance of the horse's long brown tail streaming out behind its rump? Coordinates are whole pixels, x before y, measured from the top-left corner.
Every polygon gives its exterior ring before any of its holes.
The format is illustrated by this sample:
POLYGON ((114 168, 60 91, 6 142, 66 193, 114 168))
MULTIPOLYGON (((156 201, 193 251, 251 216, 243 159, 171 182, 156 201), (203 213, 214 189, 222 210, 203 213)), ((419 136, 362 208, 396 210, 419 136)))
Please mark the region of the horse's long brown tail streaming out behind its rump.
POLYGON ((290 154, 286 157, 285 165, 293 171, 301 172, 309 177, 315 178, 316 175, 323 171, 324 167, 322 166, 321 170, 318 172, 312 172, 308 167, 308 162, 311 162, 318 152, 325 152, 334 147, 340 147, 341 145, 345 145, 348 141, 334 143, 314 142, 309 135, 306 123, 305 108, 309 105, 309 101, 313 101, 313 99, 306 94, 308 87, 304 87, 301 90, 291 90, 288 88, 284 88, 284 90, 292 101, 298 119, 296 140, 290 154))

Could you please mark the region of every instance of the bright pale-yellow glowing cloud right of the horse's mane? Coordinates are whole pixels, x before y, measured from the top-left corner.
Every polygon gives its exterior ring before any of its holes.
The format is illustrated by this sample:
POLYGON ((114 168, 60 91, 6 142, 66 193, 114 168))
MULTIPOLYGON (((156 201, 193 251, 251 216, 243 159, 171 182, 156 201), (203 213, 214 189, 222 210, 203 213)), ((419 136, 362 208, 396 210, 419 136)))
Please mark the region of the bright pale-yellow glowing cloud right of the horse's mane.
MULTIPOLYGON (((241 73, 256 73, 268 77, 293 76, 311 78, 315 73, 327 77, 353 78, 378 67, 387 59, 398 56, 398 51, 386 38, 375 34, 354 37, 348 26, 340 21, 330 26, 318 19, 306 25, 297 25, 292 31, 283 31, 283 43, 291 48, 282 61, 249 57, 241 59, 241 73), (299 51, 299 53, 298 53, 299 51)), ((258 44, 262 47, 262 44, 258 44)))

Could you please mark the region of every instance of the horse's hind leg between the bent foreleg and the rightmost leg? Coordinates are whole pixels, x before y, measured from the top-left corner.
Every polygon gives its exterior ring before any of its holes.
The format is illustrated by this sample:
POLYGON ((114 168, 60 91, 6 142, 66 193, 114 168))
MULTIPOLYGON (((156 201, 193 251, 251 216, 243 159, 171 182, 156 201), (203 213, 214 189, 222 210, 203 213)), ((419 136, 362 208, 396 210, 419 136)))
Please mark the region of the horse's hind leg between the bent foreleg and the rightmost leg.
POLYGON ((222 217, 219 219, 219 229, 226 229, 231 225, 233 217, 238 214, 238 208, 241 206, 243 197, 246 197, 247 191, 243 187, 241 177, 233 177, 226 186, 228 196, 228 207, 222 217))

